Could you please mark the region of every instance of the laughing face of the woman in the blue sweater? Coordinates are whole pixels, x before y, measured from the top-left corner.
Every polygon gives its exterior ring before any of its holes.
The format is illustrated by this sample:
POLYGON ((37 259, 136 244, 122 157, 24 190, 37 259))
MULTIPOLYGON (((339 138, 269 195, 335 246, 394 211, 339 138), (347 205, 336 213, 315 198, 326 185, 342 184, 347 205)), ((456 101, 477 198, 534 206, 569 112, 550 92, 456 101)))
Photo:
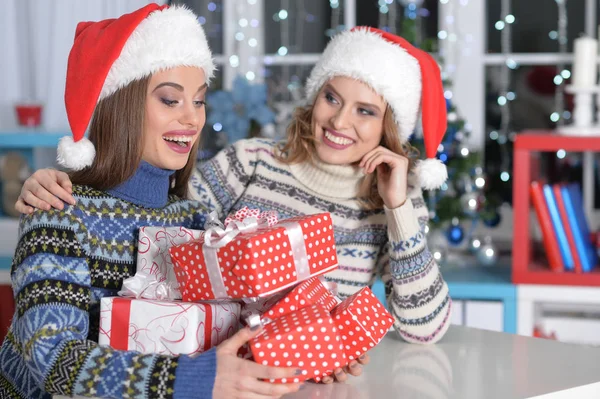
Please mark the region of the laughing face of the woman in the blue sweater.
MULTIPOLYGON (((142 159, 161 169, 182 169, 206 121, 204 71, 177 67, 150 78, 142 159)), ((193 155, 195 156, 195 155, 193 155)))

